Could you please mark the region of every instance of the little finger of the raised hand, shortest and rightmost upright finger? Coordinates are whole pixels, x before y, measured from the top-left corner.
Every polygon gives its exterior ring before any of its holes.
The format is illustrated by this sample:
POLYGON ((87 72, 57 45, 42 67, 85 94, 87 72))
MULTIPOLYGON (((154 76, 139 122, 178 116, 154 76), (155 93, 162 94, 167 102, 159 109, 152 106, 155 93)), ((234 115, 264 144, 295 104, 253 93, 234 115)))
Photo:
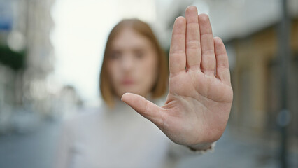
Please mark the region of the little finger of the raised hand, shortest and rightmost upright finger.
POLYGON ((219 37, 214 38, 214 48, 216 57, 216 78, 219 78, 222 82, 231 85, 227 51, 225 50, 225 45, 222 42, 222 39, 219 37))

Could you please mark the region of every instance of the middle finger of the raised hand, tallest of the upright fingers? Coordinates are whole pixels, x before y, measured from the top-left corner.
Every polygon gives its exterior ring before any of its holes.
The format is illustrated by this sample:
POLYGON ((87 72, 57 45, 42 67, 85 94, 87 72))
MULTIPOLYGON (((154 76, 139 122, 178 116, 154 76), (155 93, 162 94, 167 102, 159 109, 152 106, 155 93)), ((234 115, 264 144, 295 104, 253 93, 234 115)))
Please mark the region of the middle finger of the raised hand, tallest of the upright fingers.
POLYGON ((187 70, 199 70, 201 64, 201 44, 197 8, 195 6, 187 7, 185 18, 187 70))

